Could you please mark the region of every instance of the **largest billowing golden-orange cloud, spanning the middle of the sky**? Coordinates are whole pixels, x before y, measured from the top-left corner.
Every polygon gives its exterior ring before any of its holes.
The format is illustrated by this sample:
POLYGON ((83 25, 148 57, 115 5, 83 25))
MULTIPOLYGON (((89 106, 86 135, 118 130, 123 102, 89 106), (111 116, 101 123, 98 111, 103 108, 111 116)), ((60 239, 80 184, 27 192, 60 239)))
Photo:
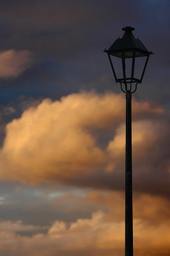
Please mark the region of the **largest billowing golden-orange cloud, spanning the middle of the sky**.
MULTIPOLYGON (((24 111, 19 119, 6 125, 0 152, 1 179, 92 187, 107 187, 107 182, 114 182, 118 188, 124 174, 123 96, 81 92, 60 101, 45 99, 24 111)), ((134 179, 140 177, 139 188, 143 188, 147 177, 148 184, 153 184, 151 190, 155 188, 154 182, 168 189, 169 130, 163 118, 164 109, 160 106, 133 99, 134 179), (164 168, 162 177, 160 165, 164 168), (155 172, 158 179, 153 180, 155 172)))

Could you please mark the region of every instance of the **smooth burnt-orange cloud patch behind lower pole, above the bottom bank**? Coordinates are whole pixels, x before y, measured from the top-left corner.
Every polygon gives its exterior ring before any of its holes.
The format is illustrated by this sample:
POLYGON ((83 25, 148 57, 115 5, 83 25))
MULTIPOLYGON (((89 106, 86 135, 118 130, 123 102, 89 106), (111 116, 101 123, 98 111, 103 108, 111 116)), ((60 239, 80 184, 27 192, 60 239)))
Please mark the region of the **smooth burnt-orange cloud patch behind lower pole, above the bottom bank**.
MULTIPOLYGON (((125 192, 118 191, 93 191, 86 198, 85 202, 102 205, 107 207, 105 219, 109 221, 123 221, 125 219, 125 192)), ((167 223, 170 216, 169 198, 146 193, 137 193, 133 195, 133 216, 134 219, 143 220, 150 225, 160 225, 167 223), (161 205, 161 207, 160 207, 161 205)))

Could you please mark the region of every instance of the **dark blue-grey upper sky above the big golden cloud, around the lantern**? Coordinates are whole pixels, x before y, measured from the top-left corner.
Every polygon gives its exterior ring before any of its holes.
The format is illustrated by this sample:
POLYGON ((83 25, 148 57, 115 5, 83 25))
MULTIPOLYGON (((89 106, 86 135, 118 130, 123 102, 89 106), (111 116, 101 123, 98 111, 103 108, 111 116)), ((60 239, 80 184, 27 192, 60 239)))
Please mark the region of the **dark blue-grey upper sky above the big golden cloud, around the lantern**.
POLYGON ((19 77, 1 79, 1 102, 9 103, 20 95, 58 99, 82 89, 115 91, 102 51, 123 35, 123 26, 134 26, 134 35, 154 52, 136 96, 167 104, 169 11, 166 0, 5 1, 1 51, 31 51, 34 61, 19 77), (99 85, 102 76, 108 81, 99 85))

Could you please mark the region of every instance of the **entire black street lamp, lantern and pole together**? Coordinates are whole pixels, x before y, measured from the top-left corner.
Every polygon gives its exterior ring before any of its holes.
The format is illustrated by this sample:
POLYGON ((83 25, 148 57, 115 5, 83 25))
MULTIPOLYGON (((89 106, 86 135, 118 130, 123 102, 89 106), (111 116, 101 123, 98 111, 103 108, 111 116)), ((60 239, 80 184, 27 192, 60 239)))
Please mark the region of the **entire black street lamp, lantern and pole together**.
POLYGON ((122 92, 126 93, 126 149, 125 149, 125 256, 133 256, 133 215, 132 215, 132 93, 137 90, 137 84, 143 81, 144 72, 150 54, 139 38, 132 34, 134 28, 127 26, 122 38, 105 49, 111 63, 116 83, 120 84, 122 92), (140 57, 140 58, 139 58, 140 57), (116 74, 116 60, 121 61, 122 74, 116 74), (137 75, 135 64, 143 64, 141 74, 137 75), (143 63, 141 63, 143 61, 143 63), (128 73, 128 74, 127 74, 128 73), (119 77, 118 77, 119 76, 119 77))

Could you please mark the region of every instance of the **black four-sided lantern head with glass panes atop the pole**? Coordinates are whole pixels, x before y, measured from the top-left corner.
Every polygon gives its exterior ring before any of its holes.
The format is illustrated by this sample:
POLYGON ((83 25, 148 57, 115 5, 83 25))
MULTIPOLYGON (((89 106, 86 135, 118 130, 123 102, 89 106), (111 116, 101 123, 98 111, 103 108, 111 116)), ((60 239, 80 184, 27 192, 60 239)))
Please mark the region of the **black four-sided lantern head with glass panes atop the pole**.
MULTIPOLYGON (((149 52, 146 49, 139 38, 134 37, 132 34, 134 28, 127 26, 122 30, 125 31, 123 37, 116 39, 111 47, 108 50, 105 49, 104 52, 107 52, 108 54, 114 78, 116 83, 120 83, 121 90, 123 90, 123 92, 130 91, 131 93, 134 93, 137 88, 137 84, 141 84, 143 81, 146 65, 152 52, 149 52), (118 77, 118 74, 116 74, 114 58, 121 58, 123 70, 122 77, 118 77), (137 77, 137 74, 135 74, 135 63, 138 61, 138 58, 143 58, 143 68, 141 70, 141 75, 137 77), (130 67, 127 67, 129 65, 130 67), (130 71, 128 72, 129 74, 126 72, 127 68, 130 71), (122 83, 125 84, 125 89, 123 88, 122 83), (135 84, 134 88, 132 88, 133 84, 135 84)), ((139 72, 139 70, 137 71, 139 72)))

